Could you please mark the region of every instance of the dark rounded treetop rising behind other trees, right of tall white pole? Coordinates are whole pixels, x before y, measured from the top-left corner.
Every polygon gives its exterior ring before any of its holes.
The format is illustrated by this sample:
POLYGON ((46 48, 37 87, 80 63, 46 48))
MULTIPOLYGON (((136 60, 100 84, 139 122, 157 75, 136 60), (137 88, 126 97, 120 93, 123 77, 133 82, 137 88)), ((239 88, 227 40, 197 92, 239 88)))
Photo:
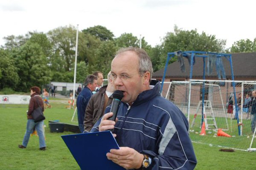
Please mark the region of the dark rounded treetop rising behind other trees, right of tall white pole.
POLYGON ((84 34, 94 35, 99 38, 101 41, 113 40, 113 33, 108 30, 105 26, 93 26, 87 29, 83 29, 84 34))

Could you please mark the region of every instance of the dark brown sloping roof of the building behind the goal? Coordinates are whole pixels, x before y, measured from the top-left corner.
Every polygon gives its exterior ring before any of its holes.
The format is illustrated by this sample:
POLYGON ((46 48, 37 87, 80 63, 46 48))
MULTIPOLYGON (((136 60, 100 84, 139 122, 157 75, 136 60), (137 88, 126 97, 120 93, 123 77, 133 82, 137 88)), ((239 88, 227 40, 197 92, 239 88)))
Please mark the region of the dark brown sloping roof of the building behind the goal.
MULTIPOLYGON (((207 60, 206 60, 207 61, 207 60)), ((232 80, 230 62, 222 57, 224 65, 226 80, 232 80)), ((252 53, 233 53, 232 54, 233 72, 235 80, 253 80, 256 81, 256 52, 252 53)), ((175 61, 169 64, 166 70, 165 81, 187 81, 189 80, 190 66, 186 58, 184 58, 185 72, 181 72, 180 63, 175 61)), ((192 79, 203 79, 203 58, 195 58, 195 64, 193 66, 192 79)), ((162 68, 157 72, 154 72, 152 78, 162 81, 164 69, 162 68)), ((217 80, 217 72, 215 67, 212 74, 205 74, 205 79, 217 80)))

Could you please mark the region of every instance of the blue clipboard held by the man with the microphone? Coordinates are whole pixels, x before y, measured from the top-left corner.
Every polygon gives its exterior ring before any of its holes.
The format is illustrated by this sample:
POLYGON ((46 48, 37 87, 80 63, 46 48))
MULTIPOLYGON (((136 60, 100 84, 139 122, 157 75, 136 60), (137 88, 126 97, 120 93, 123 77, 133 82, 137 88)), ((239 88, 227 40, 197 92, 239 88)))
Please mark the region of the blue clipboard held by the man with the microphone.
POLYGON ((61 138, 81 170, 125 170, 106 156, 111 149, 119 149, 110 131, 62 135, 61 138))

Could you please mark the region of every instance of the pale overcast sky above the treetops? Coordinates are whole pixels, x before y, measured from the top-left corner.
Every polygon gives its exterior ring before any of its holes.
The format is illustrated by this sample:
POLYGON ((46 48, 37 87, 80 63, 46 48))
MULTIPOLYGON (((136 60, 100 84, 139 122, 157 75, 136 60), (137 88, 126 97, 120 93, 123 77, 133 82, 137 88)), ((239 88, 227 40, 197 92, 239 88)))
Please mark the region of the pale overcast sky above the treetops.
POLYGON ((0 45, 8 35, 47 33, 79 24, 79 30, 101 25, 115 37, 140 35, 155 46, 177 25, 227 40, 256 38, 254 0, 0 0, 0 45))

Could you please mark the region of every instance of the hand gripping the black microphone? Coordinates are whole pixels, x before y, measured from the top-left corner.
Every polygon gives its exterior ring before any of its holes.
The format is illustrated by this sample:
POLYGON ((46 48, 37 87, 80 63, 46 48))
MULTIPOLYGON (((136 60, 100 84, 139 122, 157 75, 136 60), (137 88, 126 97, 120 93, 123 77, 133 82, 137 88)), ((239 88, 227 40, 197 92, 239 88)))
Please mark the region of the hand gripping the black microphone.
MULTIPOLYGON (((111 130, 114 128, 117 118, 116 118, 116 121, 108 120, 112 115, 113 115, 113 112, 109 112, 103 115, 102 120, 99 124, 99 132, 111 130)), ((113 136, 116 137, 116 134, 113 134, 113 136)))

